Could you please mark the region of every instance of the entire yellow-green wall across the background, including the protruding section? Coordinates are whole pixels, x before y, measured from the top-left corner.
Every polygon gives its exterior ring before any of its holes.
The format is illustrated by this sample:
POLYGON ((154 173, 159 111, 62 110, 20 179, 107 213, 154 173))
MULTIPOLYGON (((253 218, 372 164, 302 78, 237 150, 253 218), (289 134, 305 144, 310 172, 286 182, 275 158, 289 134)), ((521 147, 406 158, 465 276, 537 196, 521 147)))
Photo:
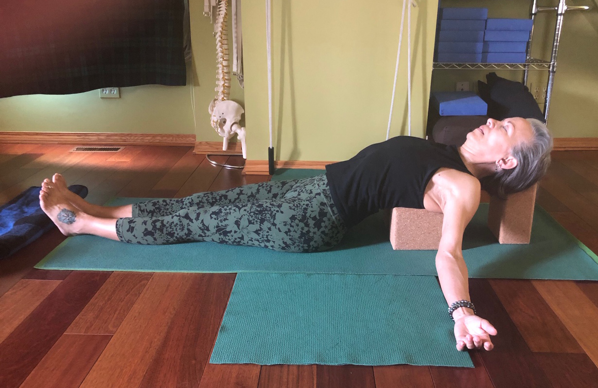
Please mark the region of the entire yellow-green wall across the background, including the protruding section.
MULTIPOLYGON (((581 5, 581 0, 569 0, 581 5)), ((556 4, 547 0, 542 5, 556 4)), ((548 125, 556 137, 594 137, 598 130, 598 10, 566 14, 548 125)), ((100 99, 97 90, 69 96, 0 99, 0 131, 196 133, 221 141, 209 125, 207 106, 215 95, 215 39, 203 16, 203 1, 190 0, 197 126, 191 83, 121 88, 120 99, 100 99)), ((395 69, 401 3, 380 0, 273 1, 273 115, 277 160, 342 160, 385 139, 395 69)), ((412 8, 412 129, 423 136, 429 90, 453 90, 456 81, 483 79, 483 72, 434 71, 432 50, 437 1, 412 8), (431 80, 432 78, 432 80, 431 80)), ((520 0, 443 0, 443 6, 488 7, 490 17, 527 17, 520 0)), ((269 145, 266 19, 264 1, 243 1, 245 90, 233 78, 231 98, 246 108, 248 153, 267 159, 269 145)), ((406 22, 405 22, 406 23, 406 22)), ((536 24, 533 54, 547 58, 554 16, 536 24)), ((407 133, 407 41, 403 41, 391 136, 407 133)), ((533 85, 546 72, 532 73, 533 85)), ((501 72, 521 80, 521 72, 501 72)))

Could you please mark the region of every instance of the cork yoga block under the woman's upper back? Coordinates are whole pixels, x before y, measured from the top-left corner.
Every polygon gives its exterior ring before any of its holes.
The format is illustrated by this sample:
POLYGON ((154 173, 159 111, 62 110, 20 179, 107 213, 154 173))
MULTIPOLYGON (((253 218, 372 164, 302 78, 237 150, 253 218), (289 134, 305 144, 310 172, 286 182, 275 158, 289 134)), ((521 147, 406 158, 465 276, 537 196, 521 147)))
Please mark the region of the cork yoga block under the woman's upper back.
POLYGON ((390 244, 395 250, 438 249, 443 214, 395 207, 390 216, 390 244))

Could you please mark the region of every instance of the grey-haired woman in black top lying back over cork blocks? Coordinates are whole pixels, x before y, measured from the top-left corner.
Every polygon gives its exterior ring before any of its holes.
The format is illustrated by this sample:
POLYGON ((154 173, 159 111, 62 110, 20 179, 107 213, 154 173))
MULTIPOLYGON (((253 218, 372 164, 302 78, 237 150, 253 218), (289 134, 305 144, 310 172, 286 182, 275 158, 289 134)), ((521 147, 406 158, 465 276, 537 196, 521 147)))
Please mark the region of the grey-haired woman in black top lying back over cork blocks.
POLYGON ((551 148, 538 120, 490 119, 460 147, 397 136, 329 164, 325 175, 314 178, 106 207, 71 193, 55 174, 42 183, 39 201, 68 236, 149 245, 210 241, 287 252, 332 248, 348 228, 380 209, 443 213, 436 268, 457 349, 491 350, 496 329, 475 315, 469 299, 463 231, 480 204, 481 188, 500 197, 525 190, 548 169, 551 148))

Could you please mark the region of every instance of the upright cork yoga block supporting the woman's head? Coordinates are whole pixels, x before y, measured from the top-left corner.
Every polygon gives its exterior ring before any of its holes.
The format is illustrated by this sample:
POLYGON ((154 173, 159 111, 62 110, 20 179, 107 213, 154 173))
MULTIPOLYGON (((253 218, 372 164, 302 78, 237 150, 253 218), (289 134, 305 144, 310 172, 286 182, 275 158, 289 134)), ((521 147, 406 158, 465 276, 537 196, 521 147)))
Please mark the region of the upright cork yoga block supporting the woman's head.
POLYGON ((529 244, 537 187, 511 194, 506 200, 490 197, 488 227, 499 243, 529 244))

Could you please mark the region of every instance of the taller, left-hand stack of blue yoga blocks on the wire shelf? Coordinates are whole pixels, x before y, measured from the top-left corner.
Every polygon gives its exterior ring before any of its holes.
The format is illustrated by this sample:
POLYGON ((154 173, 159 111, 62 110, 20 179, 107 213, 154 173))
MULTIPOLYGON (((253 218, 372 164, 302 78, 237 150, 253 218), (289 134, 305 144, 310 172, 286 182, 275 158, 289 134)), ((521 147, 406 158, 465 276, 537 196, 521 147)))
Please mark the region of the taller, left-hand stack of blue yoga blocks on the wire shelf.
POLYGON ((480 63, 488 8, 441 8, 437 62, 480 63))

